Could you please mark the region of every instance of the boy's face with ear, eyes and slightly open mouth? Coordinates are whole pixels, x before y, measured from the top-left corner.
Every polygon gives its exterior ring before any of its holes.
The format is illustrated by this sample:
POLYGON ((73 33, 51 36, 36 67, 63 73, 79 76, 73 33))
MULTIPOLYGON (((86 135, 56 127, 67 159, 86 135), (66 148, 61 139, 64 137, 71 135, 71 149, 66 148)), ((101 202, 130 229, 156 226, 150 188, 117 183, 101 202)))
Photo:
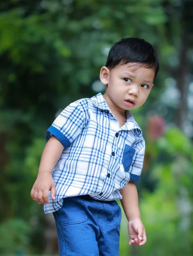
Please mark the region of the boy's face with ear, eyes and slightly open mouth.
POLYGON ((146 68, 140 63, 118 64, 112 70, 102 67, 100 79, 106 84, 104 98, 118 113, 141 107, 153 87, 154 68, 146 68))

